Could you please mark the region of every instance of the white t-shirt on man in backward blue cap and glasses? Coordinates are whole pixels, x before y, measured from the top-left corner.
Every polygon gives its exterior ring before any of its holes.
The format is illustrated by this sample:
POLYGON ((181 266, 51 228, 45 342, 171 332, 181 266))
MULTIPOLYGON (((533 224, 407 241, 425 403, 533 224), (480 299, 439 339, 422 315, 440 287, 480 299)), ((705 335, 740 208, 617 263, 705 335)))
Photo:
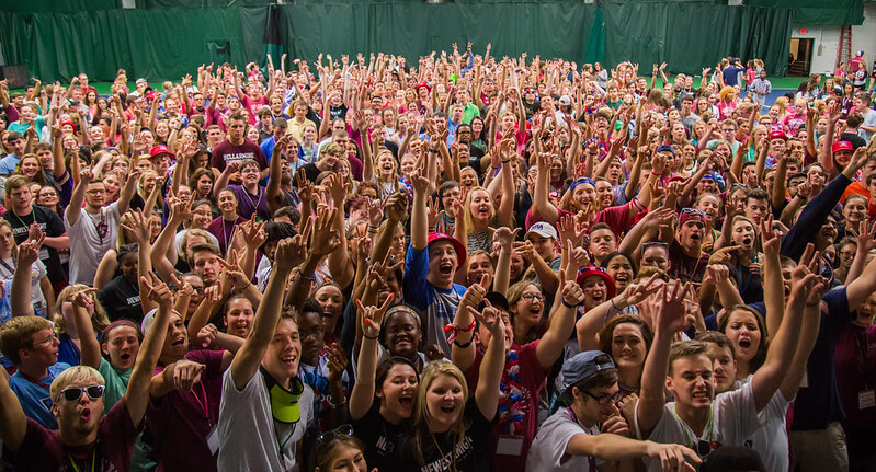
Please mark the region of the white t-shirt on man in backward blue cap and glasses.
POLYGON ((588 456, 569 456, 566 447, 578 435, 599 435, 598 428, 585 428, 578 423, 568 408, 554 413, 538 429, 526 457, 526 470, 536 471, 589 471, 591 461, 596 467, 605 461, 588 456))

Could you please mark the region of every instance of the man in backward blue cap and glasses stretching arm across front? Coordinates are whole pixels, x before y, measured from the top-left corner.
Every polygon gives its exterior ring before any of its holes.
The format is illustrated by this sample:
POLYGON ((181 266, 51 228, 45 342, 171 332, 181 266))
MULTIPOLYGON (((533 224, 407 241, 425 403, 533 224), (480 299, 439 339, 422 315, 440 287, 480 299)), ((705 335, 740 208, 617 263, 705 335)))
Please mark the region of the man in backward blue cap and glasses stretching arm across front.
POLYGON ((562 406, 538 430, 527 471, 595 471, 641 457, 660 460, 662 470, 695 470, 684 463, 699 462, 691 449, 629 438, 629 425, 616 404, 617 370, 607 354, 588 350, 567 359, 560 384, 562 406))

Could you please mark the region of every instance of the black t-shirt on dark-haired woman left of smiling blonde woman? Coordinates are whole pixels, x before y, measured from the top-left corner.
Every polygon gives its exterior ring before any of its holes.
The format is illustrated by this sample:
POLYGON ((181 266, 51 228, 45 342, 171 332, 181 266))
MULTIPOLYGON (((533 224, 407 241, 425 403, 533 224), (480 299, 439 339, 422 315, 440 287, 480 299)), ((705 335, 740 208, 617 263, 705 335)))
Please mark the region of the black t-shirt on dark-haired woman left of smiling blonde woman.
POLYGON ((380 401, 375 399, 371 410, 351 423, 353 434, 365 445, 363 454, 368 468, 380 472, 400 472, 399 452, 401 438, 409 431, 409 423, 394 425, 380 416, 380 401))

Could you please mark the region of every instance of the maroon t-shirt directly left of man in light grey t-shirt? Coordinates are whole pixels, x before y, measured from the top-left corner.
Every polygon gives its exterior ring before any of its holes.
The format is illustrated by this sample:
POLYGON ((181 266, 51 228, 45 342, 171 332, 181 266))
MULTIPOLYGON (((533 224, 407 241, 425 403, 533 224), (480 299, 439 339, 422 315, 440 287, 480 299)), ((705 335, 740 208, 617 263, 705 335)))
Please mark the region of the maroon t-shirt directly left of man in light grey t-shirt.
MULTIPOLYGON (((191 392, 174 390, 151 399, 146 424, 156 442, 159 471, 215 471, 216 456, 207 446, 207 436, 219 421, 221 400, 221 350, 192 350, 189 360, 206 366, 201 382, 191 392)), ((152 375, 164 371, 157 366, 152 375)))

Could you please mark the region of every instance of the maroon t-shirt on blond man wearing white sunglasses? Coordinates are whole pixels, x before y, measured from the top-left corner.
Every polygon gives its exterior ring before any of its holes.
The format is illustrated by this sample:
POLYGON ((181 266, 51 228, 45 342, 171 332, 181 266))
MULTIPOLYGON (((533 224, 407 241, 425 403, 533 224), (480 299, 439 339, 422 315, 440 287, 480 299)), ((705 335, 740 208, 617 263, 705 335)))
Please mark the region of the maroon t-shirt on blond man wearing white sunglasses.
POLYGON ((3 456, 11 457, 12 465, 21 471, 73 471, 72 461, 80 471, 125 472, 130 470, 130 452, 138 434, 123 398, 100 419, 98 440, 90 445, 64 446, 57 430, 27 418, 21 447, 15 453, 4 448, 3 456))

